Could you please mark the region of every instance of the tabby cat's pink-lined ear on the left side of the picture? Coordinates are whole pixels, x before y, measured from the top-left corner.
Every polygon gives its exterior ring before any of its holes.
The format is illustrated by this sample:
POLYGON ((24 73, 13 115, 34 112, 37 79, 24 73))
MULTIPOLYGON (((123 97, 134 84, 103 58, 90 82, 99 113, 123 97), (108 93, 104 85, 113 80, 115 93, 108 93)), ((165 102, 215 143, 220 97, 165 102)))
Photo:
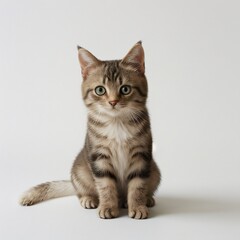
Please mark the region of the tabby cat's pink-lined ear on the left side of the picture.
POLYGON ((101 61, 98 60, 92 53, 88 50, 77 46, 78 48, 78 59, 82 69, 83 80, 95 69, 98 65, 101 64, 101 61))

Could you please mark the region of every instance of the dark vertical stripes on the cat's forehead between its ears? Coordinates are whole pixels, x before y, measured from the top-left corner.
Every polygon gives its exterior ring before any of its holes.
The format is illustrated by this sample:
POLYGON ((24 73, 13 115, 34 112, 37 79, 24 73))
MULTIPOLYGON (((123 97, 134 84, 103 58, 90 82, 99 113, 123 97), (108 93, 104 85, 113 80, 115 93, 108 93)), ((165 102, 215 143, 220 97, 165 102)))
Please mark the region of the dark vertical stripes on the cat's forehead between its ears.
POLYGON ((120 85, 122 84, 122 76, 119 63, 120 60, 104 62, 103 84, 106 84, 108 81, 112 83, 119 81, 120 85))

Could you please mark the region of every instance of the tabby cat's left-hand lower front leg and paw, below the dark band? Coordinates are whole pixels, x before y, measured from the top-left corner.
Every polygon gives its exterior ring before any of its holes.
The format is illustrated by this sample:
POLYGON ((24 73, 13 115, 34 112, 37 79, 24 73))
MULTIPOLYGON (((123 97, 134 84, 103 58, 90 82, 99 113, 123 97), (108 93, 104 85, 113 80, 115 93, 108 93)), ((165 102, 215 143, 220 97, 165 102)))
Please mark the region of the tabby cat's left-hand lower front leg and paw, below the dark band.
POLYGON ((111 177, 96 179, 99 193, 99 217, 110 219, 119 216, 118 192, 116 180, 111 177))

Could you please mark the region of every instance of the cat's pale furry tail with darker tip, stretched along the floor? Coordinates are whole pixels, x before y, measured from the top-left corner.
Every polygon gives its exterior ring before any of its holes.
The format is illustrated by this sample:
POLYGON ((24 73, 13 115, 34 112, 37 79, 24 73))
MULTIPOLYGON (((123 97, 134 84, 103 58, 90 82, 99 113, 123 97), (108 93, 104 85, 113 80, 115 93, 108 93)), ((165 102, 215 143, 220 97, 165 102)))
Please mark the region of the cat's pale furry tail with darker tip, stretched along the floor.
POLYGON ((52 198, 76 195, 71 181, 46 182, 26 191, 19 203, 23 206, 31 206, 52 198))

